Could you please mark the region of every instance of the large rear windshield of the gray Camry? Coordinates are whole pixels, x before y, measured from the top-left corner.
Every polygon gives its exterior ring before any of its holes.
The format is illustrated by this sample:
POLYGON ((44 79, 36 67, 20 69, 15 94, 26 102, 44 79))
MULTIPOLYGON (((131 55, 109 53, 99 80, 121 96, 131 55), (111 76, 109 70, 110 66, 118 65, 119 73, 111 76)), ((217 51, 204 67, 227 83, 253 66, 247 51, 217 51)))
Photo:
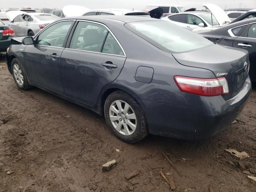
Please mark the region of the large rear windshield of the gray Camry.
POLYGON ((186 52, 213 44, 206 38, 168 21, 130 22, 125 26, 166 52, 186 52))

